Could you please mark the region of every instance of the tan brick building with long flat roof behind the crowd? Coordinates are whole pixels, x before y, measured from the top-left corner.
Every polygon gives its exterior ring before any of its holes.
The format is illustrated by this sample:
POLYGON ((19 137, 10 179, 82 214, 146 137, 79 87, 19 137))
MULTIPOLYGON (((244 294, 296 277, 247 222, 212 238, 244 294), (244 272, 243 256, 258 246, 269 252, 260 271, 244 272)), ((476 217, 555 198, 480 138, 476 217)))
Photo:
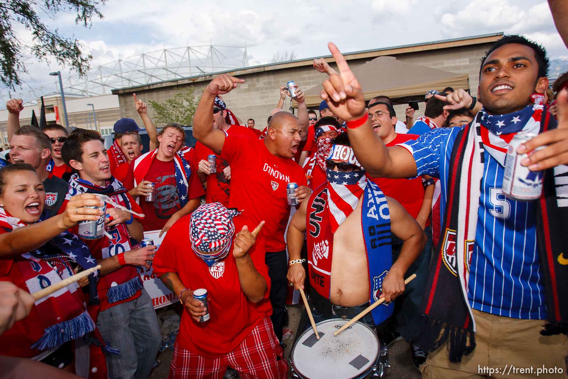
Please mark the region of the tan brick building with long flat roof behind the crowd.
MULTIPOLYGON (((479 60, 494 41, 500 39, 503 33, 479 35, 466 38, 433 41, 428 43, 371 49, 360 52, 346 53, 345 58, 349 65, 355 68, 366 61, 378 56, 394 56, 397 60, 407 63, 424 65, 452 73, 469 74, 469 85, 473 94, 477 93, 479 83, 479 60)), ((331 56, 325 57, 329 62, 331 56)), ((320 85, 327 75, 319 73, 313 66, 313 58, 275 63, 243 69, 227 71, 229 75, 245 80, 235 90, 223 96, 229 109, 231 109, 243 122, 248 118, 256 120, 257 128, 266 126, 266 118, 274 109, 279 99, 279 88, 287 81, 294 80, 304 90, 320 85)), ((331 64, 334 66, 334 64, 331 64)), ((112 90, 118 95, 120 103, 120 116, 136 119, 136 110, 132 102, 132 93, 145 102, 150 100, 164 102, 173 97, 180 89, 194 86, 195 93, 199 94, 211 81, 213 75, 194 76, 177 80, 163 81, 143 86, 112 90)), ((443 88, 436 88, 442 90, 443 88)), ((285 109, 291 103, 287 99, 285 109)), ((406 106, 395 106, 397 113, 404 114, 406 106)), ((424 107, 416 116, 422 115, 424 107)), ((152 115, 152 110, 149 109, 152 115)))

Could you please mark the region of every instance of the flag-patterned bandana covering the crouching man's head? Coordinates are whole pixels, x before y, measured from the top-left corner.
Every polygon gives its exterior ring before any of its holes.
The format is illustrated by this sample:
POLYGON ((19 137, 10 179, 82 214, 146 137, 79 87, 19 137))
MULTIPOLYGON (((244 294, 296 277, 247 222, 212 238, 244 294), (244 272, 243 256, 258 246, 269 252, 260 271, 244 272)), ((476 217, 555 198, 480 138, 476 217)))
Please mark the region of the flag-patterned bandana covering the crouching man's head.
POLYGON ((233 217, 241 214, 236 209, 227 209, 222 203, 203 204, 191 214, 189 240, 195 254, 211 267, 229 253, 235 234, 233 217), (216 253, 214 251, 219 250, 216 253), (212 254, 207 254, 212 253, 212 254))

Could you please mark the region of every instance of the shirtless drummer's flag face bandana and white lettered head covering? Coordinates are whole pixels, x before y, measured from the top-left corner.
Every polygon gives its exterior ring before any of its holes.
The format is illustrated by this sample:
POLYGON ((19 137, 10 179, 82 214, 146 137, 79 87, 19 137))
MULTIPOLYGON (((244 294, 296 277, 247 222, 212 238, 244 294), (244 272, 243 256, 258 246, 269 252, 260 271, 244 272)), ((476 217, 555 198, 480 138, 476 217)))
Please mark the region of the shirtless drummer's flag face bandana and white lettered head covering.
MULTIPOLYGON (((361 167, 355 158, 353 149, 349 146, 333 145, 332 153, 328 157, 328 160, 329 159, 340 160, 361 167), (341 157, 344 157, 344 159, 341 159, 341 157), (357 163, 354 163, 353 160, 357 161, 357 163)), ((332 233, 335 233, 337 228, 339 228, 357 207, 359 198, 367 186, 367 178, 365 176, 365 170, 342 172, 326 169, 325 172, 327 174, 327 181, 329 182, 327 186, 329 222, 331 223, 332 233)))

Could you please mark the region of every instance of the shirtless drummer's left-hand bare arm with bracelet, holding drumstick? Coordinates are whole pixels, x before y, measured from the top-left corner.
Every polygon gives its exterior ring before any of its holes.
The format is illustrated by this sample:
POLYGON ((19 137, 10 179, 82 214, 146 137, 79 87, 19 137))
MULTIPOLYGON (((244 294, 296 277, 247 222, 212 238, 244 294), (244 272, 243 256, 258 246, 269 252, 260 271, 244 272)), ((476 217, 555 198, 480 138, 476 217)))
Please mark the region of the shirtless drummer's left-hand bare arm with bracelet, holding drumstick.
MULTIPOLYGON (((286 242, 289 260, 300 259, 302 245, 304 244, 304 233, 306 232, 306 209, 307 201, 303 201, 296 213, 292 216, 288 225, 286 234, 286 242)), ((306 270, 300 263, 291 264, 288 268, 287 279, 294 284, 295 289, 304 289, 304 280, 306 280, 306 270)))

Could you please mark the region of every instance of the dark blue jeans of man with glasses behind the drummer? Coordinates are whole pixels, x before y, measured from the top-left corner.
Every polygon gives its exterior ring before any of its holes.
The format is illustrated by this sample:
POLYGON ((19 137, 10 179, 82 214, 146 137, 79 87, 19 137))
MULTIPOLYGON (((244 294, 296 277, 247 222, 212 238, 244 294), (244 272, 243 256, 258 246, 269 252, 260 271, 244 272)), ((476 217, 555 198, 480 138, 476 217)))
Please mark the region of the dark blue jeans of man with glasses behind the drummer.
MULTIPOLYGON (((396 298, 395 313, 396 331, 412 322, 412 319, 420 314, 420 303, 428 284, 428 272, 430 270, 430 259, 432 257, 432 227, 428 226, 424 230, 427 241, 424 249, 416 260, 410 265, 406 276, 416 274, 416 279, 405 286, 404 293, 396 298)), ((392 235, 392 262, 400 255, 402 241, 392 235)))

